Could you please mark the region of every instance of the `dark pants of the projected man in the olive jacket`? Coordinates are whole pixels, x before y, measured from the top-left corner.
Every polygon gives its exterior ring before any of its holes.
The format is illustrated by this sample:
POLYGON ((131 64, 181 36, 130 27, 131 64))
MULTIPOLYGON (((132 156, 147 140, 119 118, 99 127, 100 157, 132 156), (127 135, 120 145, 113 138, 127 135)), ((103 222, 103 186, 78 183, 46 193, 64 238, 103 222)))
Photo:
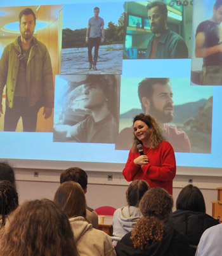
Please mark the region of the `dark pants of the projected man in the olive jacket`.
POLYGON ((16 97, 13 100, 13 108, 6 106, 4 113, 4 131, 15 131, 18 120, 22 117, 23 132, 35 132, 37 113, 41 104, 29 107, 26 97, 16 97))

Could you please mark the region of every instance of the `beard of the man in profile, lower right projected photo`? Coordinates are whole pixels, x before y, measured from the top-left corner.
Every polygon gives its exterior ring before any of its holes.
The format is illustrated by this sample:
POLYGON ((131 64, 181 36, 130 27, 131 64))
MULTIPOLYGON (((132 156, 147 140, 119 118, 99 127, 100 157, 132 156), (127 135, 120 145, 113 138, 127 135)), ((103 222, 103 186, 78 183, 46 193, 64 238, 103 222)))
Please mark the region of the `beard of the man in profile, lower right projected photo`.
POLYGON ((154 117, 155 119, 157 119, 157 121, 161 123, 169 123, 173 120, 174 113, 173 111, 168 111, 168 113, 165 113, 164 110, 167 107, 173 108, 173 104, 167 103, 164 106, 163 110, 157 110, 157 108, 155 108, 155 106, 153 106, 153 103, 151 102, 149 114, 152 115, 152 117, 154 117))

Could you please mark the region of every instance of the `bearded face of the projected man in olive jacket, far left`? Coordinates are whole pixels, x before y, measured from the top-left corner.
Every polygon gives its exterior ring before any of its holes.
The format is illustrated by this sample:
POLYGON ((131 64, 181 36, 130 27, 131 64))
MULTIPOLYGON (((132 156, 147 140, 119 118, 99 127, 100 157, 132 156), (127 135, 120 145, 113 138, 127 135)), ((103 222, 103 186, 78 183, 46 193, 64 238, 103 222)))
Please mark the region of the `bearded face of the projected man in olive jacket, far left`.
POLYGON ((22 15, 21 22, 19 24, 20 33, 25 40, 32 38, 35 31, 36 23, 32 14, 22 15))

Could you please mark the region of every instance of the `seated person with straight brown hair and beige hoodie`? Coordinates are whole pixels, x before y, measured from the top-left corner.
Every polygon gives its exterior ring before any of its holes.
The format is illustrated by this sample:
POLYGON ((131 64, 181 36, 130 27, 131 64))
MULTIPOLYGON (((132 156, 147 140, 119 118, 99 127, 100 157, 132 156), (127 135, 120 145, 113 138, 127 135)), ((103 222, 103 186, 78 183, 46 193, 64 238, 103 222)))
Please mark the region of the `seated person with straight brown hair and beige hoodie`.
POLYGON ((68 216, 79 255, 113 256, 112 239, 86 222, 86 197, 79 183, 66 181, 58 187, 54 201, 68 216))

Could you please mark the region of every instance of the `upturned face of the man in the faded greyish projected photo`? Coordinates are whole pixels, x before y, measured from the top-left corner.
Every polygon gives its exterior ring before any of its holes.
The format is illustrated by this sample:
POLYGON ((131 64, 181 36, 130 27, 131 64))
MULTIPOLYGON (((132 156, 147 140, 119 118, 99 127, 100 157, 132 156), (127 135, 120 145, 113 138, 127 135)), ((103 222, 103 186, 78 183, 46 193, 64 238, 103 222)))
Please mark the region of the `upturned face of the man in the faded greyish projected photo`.
POLYGON ((101 108, 101 106, 105 104, 106 97, 100 86, 85 85, 83 101, 84 108, 94 110, 96 108, 101 108))

